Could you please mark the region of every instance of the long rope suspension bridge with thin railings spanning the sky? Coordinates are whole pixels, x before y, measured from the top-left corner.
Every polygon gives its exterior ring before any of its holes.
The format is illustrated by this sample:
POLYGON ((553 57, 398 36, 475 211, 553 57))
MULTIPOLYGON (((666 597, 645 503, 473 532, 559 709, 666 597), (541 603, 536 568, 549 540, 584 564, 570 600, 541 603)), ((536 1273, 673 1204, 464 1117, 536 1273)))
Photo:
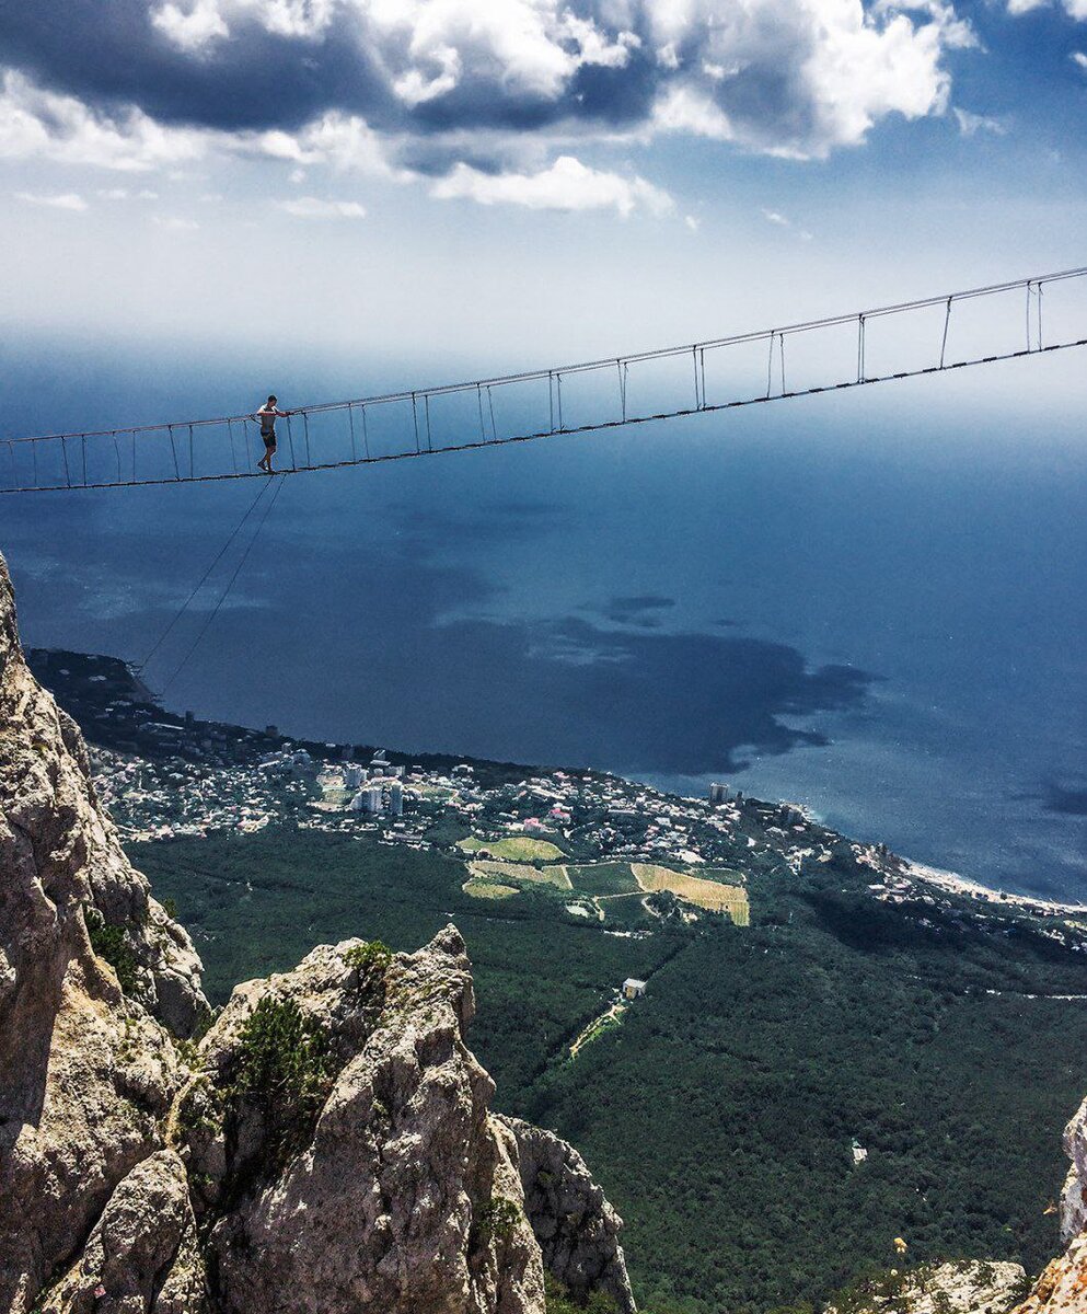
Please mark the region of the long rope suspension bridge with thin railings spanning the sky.
MULTIPOLYGON (((1087 267, 580 364, 293 409, 277 474, 528 443, 1087 346, 1087 267)), ((252 414, 0 439, 0 494, 266 478, 252 414)))

